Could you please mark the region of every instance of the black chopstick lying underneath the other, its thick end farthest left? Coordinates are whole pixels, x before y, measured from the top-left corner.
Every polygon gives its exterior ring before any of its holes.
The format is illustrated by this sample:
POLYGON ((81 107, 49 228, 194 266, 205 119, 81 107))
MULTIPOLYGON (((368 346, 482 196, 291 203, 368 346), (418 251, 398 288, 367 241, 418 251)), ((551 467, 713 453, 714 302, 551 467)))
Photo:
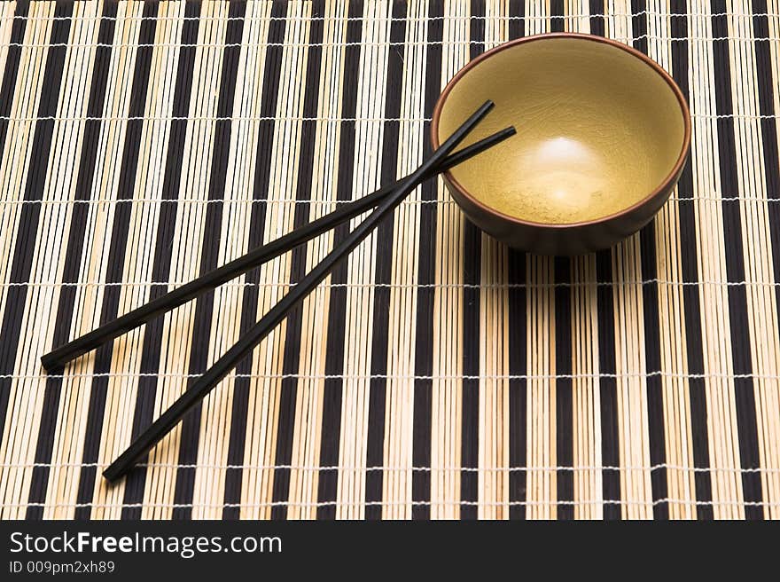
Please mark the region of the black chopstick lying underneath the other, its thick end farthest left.
MULTIPOLYGON (((433 177, 446 169, 456 166, 461 161, 468 160, 472 156, 484 152, 488 147, 495 146, 499 141, 509 138, 514 134, 514 131, 514 128, 507 128, 488 138, 482 139, 471 146, 464 147, 464 149, 456 153, 452 153, 448 158, 442 161, 441 164, 429 169, 425 177, 433 177)), ((366 210, 376 207, 379 202, 383 201, 389 193, 392 193, 395 188, 402 184, 403 179, 393 185, 386 186, 374 193, 363 196, 363 198, 356 201, 348 202, 333 212, 321 216, 292 232, 288 232, 277 240, 269 242, 267 245, 253 248, 246 253, 246 255, 239 256, 237 259, 230 261, 230 263, 225 263, 221 267, 214 269, 214 271, 208 271, 203 275, 200 275, 197 279, 192 279, 181 287, 176 287, 172 291, 168 291, 165 295, 160 295, 160 297, 153 299, 149 303, 144 303, 144 305, 137 307, 133 311, 129 311, 89 333, 83 334, 81 337, 77 337, 55 350, 51 350, 41 357, 43 367, 50 372, 61 370, 70 360, 78 358, 90 350, 94 350, 102 343, 112 340, 121 334, 126 334, 131 329, 141 326, 147 321, 154 319, 167 311, 171 311, 183 303, 191 301, 191 299, 194 299, 198 295, 219 287, 222 283, 226 283, 230 279, 235 279, 238 275, 257 267, 262 263, 266 263, 279 255, 285 254, 292 248, 319 236, 323 232, 331 230, 331 228, 337 224, 341 224, 350 218, 363 214, 366 210)))

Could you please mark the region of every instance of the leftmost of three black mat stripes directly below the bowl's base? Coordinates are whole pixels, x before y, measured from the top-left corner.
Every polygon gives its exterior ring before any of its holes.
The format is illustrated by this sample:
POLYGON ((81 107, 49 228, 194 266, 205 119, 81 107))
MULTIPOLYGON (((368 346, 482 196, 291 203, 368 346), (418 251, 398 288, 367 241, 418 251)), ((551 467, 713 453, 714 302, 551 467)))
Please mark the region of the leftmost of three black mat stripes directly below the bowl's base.
MULTIPOLYGON (((510 38, 526 35, 526 7, 523 0, 511 0, 509 6, 510 38)), ((519 128, 522 131, 522 128, 519 128)), ((509 326, 509 465, 527 465, 527 254, 510 248, 507 250, 508 322, 509 326)), ((509 474, 510 519, 525 519, 526 471, 509 474)))

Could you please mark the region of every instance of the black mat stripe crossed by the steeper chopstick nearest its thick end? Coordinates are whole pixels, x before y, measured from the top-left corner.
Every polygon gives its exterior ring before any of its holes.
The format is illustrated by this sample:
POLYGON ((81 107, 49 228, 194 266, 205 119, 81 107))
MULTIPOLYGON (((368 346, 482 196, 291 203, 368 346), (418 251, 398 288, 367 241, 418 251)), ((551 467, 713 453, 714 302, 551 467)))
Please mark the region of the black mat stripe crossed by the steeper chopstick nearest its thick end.
MULTIPOLYGON (((155 238, 152 263, 152 281, 155 283, 164 284, 170 277, 171 256, 173 254, 176 219, 178 216, 176 200, 180 195, 179 188, 182 182, 184 144, 187 138, 188 125, 186 117, 190 112, 192 78, 195 67, 196 44, 198 42, 199 20, 197 17, 199 12, 200 4, 195 2, 187 3, 184 9, 184 16, 188 20, 185 20, 182 25, 182 47, 179 50, 176 66, 176 81, 171 112, 176 119, 172 120, 170 125, 162 182, 162 202, 160 203, 160 216, 157 220, 157 236, 155 238)), ((164 295, 165 292, 165 285, 152 285, 149 289, 150 301, 160 297, 160 295, 164 295)), ((144 330, 140 371, 141 374, 148 375, 142 375, 138 379, 136 407, 133 413, 133 439, 140 434, 144 427, 149 426, 153 420, 158 381, 153 374, 160 371, 164 322, 164 318, 152 319, 144 330)), ((84 462, 97 460, 97 451, 94 453, 94 457, 95 459, 93 460, 87 460, 85 454, 84 462)), ((121 515, 123 519, 140 519, 141 507, 138 507, 138 504, 144 500, 145 484, 146 468, 139 467, 136 471, 129 474, 125 482, 123 502, 130 507, 122 508, 121 515)), ((85 499, 80 499, 80 503, 86 502, 86 496, 89 493, 89 490, 84 492, 85 499)))

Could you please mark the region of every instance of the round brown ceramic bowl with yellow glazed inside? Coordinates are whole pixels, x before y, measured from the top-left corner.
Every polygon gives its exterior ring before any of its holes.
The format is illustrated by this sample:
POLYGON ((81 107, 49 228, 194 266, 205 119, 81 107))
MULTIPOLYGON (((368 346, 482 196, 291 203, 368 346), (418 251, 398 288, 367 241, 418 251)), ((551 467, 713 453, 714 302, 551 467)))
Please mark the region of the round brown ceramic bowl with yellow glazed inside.
POLYGON ((576 255, 650 222, 690 150, 682 91, 658 63, 601 36, 520 38, 481 54, 442 91, 434 148, 485 100, 464 145, 518 134, 443 174, 466 216, 513 248, 576 255))

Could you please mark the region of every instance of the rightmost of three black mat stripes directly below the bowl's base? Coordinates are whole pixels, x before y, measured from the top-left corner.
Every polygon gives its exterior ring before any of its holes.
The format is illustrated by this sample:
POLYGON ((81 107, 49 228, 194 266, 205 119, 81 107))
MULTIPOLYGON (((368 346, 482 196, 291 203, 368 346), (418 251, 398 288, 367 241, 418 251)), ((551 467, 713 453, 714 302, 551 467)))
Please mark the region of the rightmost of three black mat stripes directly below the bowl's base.
MULTIPOLYGON (((590 32, 605 35, 604 3, 590 1, 590 32)), ((603 250, 596 256, 596 276, 599 283, 614 282, 612 255, 616 251, 603 250)), ((597 287, 598 372, 615 374, 615 311, 612 287, 597 287)), ((601 464, 620 467, 620 431, 618 429, 618 385, 614 375, 599 378, 599 408, 601 411, 601 464)), ((602 495, 605 500, 605 519, 620 519, 620 473, 602 471, 602 495)))

